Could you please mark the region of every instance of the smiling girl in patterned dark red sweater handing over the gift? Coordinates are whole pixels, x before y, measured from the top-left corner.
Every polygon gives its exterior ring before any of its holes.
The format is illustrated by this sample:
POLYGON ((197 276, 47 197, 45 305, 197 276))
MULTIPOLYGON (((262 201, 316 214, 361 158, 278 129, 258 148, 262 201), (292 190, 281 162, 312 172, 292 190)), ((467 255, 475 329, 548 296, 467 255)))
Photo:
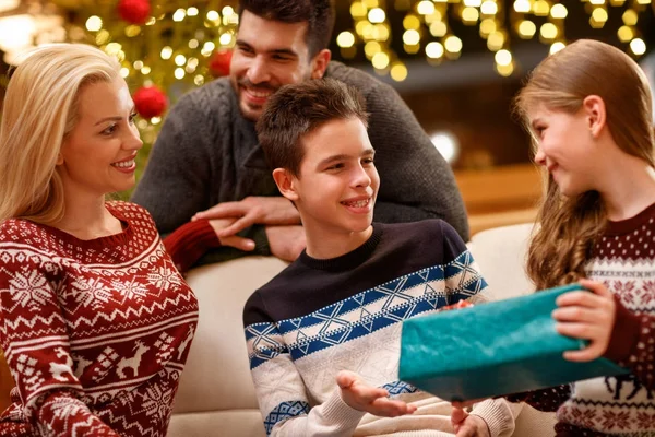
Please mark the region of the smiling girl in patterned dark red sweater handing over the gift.
POLYGON ((584 39, 544 60, 516 98, 548 174, 527 272, 537 290, 579 281, 592 292, 557 300, 558 332, 590 341, 564 358, 631 370, 508 397, 557 411, 558 437, 655 435, 652 104, 636 62, 584 39))

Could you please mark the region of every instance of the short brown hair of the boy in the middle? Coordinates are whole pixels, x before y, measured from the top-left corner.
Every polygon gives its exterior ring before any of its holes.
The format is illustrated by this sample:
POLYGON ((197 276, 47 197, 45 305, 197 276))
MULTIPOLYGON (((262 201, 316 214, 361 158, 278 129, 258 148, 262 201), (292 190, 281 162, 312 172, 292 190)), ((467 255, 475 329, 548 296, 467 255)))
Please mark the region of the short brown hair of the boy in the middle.
POLYGON ((273 168, 299 176, 302 137, 334 119, 359 118, 368 126, 361 93, 334 79, 314 79, 279 88, 257 122, 260 144, 273 168))

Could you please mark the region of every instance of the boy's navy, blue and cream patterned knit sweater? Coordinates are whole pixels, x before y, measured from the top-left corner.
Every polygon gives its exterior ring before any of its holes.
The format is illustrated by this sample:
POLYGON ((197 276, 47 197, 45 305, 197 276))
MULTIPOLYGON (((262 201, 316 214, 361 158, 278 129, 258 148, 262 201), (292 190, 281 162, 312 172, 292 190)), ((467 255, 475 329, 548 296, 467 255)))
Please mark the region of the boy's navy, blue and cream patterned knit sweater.
MULTIPOLYGON (((441 220, 373 224, 344 256, 300 258, 252 294, 243 324, 254 387, 269 435, 444 436, 450 403, 397 380, 405 319, 468 299, 487 286, 456 232, 441 220), (340 370, 359 374, 418 411, 377 417, 345 404, 340 370)), ((504 400, 477 404, 493 436, 510 435, 504 400)))

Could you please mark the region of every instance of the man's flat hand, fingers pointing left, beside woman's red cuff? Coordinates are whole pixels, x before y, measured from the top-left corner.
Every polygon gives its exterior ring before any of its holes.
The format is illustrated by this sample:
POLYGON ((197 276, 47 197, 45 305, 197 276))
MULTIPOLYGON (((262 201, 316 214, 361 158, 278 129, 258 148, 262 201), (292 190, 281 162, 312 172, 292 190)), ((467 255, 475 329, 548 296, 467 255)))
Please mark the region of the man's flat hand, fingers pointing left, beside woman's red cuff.
POLYGON ((238 202, 223 202, 196 213, 191 220, 235 218, 234 223, 216 233, 218 238, 237 234, 254 224, 298 225, 300 214, 294 204, 281 197, 247 197, 238 202))

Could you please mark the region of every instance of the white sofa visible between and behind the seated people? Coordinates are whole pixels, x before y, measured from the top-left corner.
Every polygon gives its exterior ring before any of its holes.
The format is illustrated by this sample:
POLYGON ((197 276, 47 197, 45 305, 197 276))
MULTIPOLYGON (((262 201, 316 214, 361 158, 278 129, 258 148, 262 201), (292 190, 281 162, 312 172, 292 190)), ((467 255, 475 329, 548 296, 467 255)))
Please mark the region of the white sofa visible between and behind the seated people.
MULTIPOLYGON (((533 290, 524 273, 531 229, 531 225, 488 229, 468 244, 493 298, 533 290)), ((285 265, 273 257, 248 257, 189 273, 187 281, 200 302, 200 322, 181 378, 169 437, 265 436, 250 378, 241 311, 250 294, 285 265)), ((553 436, 553 414, 524 405, 513 436, 553 436)))

